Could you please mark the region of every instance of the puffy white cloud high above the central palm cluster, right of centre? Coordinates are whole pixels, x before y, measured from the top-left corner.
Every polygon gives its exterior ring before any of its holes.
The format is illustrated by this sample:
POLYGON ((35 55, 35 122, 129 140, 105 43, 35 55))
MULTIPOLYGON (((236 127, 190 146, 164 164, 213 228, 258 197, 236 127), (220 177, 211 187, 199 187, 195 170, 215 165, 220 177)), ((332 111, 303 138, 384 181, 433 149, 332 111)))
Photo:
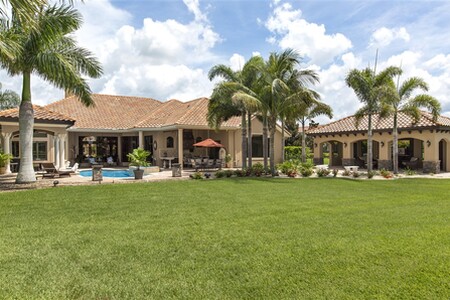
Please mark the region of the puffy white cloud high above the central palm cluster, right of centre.
POLYGON ((267 29, 273 33, 267 41, 282 49, 296 49, 309 57, 311 63, 321 65, 332 62, 352 47, 343 34, 327 34, 325 25, 309 23, 301 15, 289 3, 276 6, 266 22, 267 29))

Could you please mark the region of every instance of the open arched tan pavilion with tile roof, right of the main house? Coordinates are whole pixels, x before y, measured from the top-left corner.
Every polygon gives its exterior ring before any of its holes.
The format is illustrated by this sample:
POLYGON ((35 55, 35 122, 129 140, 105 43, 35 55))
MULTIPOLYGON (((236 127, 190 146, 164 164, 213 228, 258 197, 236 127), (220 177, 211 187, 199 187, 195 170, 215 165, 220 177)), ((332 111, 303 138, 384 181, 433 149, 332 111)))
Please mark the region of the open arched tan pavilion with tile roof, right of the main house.
MULTIPOLYGON (((418 122, 400 114, 398 126, 399 167, 422 169, 424 173, 450 171, 450 118, 440 116, 433 121, 421 112, 418 122)), ((323 164, 328 151, 331 167, 367 166, 367 117, 357 127, 350 116, 327 125, 313 128, 308 135, 314 138, 314 163, 323 164)), ((373 116, 373 163, 378 169, 392 170, 392 118, 373 116)))

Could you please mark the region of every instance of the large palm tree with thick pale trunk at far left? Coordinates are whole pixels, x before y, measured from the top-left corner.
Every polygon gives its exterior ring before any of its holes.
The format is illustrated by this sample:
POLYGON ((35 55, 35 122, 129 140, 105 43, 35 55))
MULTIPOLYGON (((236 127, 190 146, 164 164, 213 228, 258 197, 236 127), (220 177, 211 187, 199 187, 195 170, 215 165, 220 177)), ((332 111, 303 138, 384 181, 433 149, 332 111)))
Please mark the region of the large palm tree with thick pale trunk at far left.
MULTIPOLYGON (((4 20, 3 20, 4 21, 4 20)), ((33 106, 31 102, 31 74, 77 96, 89 106, 93 105, 91 90, 82 77, 99 77, 99 62, 92 54, 76 45, 69 34, 81 26, 81 15, 68 6, 44 7, 35 15, 34 26, 20 20, 1 22, 2 31, 13 33, 20 45, 13 59, 0 55, 0 63, 10 75, 22 75, 22 101, 19 108, 20 158, 17 183, 36 180, 32 160, 33 106)))

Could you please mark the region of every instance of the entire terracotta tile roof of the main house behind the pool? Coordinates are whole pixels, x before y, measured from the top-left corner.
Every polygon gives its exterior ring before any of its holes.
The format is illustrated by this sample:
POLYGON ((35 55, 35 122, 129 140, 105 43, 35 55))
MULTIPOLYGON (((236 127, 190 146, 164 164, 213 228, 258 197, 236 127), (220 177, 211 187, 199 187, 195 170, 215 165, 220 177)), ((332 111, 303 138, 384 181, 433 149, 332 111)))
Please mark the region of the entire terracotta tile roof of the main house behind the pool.
MULTIPOLYGON (((141 97, 93 95, 95 107, 85 107, 74 96, 46 107, 72 116, 76 129, 132 129, 164 126, 208 126, 208 98, 188 102, 175 99, 160 102, 141 97)), ((231 118, 222 127, 237 128, 240 118, 231 118)))

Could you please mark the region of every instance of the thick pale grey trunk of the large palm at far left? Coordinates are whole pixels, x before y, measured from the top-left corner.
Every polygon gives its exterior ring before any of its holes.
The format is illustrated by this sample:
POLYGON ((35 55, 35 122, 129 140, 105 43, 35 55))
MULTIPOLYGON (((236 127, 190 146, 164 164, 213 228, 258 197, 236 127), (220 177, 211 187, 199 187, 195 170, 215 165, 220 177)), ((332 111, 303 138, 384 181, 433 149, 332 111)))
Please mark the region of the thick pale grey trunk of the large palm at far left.
POLYGON ((35 182, 33 169, 34 112, 31 103, 31 73, 23 73, 22 102, 19 107, 20 167, 16 183, 35 182))

